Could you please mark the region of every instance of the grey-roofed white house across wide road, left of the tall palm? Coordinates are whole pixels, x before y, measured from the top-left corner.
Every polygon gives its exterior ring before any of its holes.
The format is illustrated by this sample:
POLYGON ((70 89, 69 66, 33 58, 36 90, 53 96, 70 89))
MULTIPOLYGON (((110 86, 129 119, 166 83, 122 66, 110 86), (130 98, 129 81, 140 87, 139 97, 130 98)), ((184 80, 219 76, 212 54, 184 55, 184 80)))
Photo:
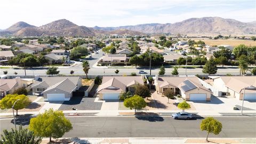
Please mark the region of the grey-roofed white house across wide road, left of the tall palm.
POLYGON ((50 63, 69 63, 68 55, 57 55, 54 53, 46 54, 44 57, 50 61, 50 63), (65 58, 65 61, 63 61, 65 58))

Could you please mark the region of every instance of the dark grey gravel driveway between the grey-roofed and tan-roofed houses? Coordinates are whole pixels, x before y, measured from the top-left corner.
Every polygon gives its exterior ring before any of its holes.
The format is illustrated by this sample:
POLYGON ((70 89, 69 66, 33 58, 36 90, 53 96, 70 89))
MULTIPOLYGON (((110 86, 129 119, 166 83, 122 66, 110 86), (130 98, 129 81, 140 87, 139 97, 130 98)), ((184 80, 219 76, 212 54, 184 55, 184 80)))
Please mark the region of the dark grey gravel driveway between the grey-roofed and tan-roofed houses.
POLYGON ((95 98, 73 97, 69 101, 64 101, 59 110, 100 110, 102 102, 94 102, 95 98))

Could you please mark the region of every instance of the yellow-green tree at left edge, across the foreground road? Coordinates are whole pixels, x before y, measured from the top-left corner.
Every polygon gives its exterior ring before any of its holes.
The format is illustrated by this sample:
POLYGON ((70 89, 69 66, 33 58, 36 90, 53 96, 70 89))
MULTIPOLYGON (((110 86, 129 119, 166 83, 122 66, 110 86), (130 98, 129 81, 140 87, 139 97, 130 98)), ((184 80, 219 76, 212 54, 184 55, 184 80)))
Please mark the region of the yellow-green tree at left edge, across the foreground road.
POLYGON ((29 98, 24 94, 21 94, 21 95, 7 94, 2 100, 0 100, 0 108, 1 109, 12 108, 15 101, 17 102, 15 103, 15 106, 13 109, 16 110, 16 115, 18 115, 19 109, 26 108, 31 102, 29 98))

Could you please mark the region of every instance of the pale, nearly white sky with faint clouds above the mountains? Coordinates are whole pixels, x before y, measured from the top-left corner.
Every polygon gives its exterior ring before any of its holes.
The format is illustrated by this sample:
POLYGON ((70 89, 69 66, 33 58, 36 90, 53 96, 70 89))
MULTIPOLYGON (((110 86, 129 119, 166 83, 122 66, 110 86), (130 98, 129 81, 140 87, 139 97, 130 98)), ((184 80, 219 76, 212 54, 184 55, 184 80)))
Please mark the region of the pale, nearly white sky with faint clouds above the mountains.
POLYGON ((0 29, 18 21, 42 26, 58 19, 87 27, 174 23, 201 17, 256 20, 255 0, 1 0, 0 5, 0 29))

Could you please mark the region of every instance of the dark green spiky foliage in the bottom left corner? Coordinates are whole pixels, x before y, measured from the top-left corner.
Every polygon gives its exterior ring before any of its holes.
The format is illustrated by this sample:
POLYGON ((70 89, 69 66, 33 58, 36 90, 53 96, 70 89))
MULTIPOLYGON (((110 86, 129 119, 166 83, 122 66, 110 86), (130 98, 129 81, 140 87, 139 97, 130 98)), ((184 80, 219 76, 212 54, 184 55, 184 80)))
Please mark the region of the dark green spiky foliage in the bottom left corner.
POLYGON ((1 144, 40 144, 42 141, 42 137, 37 137, 33 131, 22 129, 21 125, 19 126, 19 130, 3 130, 1 137, 1 144))

